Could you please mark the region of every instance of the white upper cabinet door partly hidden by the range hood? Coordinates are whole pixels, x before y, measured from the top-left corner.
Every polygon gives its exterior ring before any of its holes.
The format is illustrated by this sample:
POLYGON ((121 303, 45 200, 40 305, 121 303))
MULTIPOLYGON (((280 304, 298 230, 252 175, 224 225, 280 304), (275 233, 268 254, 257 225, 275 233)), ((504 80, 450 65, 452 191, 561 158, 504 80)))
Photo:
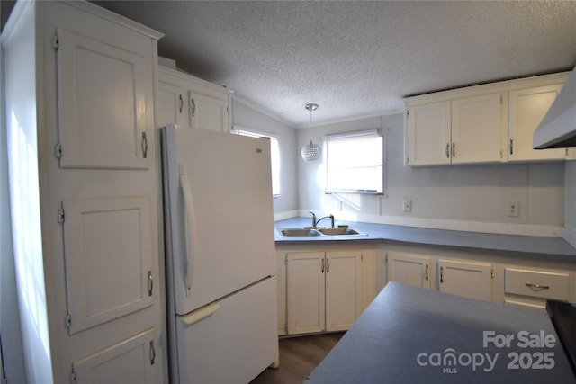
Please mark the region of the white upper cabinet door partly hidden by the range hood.
POLYGON ((509 160, 564 159, 564 148, 536 150, 534 132, 562 85, 545 85, 509 93, 509 160))

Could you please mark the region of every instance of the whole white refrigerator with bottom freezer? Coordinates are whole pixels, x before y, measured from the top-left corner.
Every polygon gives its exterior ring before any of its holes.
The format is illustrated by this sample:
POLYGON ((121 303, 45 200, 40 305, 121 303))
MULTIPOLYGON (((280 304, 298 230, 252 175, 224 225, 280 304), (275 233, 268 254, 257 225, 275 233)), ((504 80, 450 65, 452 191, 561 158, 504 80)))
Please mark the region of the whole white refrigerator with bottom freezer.
POLYGON ((270 142, 161 129, 172 383, 247 383, 278 362, 270 142))

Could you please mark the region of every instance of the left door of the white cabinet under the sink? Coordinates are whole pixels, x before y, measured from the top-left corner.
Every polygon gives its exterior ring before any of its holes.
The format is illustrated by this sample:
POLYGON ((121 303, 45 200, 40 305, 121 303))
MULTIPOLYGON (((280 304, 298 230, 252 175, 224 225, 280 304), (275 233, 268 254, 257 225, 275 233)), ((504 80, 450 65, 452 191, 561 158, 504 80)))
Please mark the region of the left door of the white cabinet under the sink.
POLYGON ((325 326, 323 252, 288 254, 288 333, 322 332, 325 326))

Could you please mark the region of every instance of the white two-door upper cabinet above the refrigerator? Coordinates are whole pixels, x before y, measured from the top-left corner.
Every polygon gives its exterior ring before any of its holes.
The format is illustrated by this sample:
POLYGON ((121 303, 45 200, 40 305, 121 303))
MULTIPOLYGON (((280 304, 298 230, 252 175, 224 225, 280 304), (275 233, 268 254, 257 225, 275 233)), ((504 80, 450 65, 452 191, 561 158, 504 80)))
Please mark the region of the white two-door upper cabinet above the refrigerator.
POLYGON ((229 132, 230 92, 167 67, 158 68, 158 125, 184 124, 229 132))

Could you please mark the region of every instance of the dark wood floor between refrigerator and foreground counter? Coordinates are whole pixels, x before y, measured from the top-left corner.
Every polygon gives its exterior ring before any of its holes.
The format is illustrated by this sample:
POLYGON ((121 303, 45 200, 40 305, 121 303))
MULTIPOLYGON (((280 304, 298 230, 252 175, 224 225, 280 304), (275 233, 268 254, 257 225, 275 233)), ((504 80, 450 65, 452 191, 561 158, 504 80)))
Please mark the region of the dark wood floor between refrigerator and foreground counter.
POLYGON ((250 384, 302 384, 344 332, 280 339, 280 366, 268 368, 250 384))

